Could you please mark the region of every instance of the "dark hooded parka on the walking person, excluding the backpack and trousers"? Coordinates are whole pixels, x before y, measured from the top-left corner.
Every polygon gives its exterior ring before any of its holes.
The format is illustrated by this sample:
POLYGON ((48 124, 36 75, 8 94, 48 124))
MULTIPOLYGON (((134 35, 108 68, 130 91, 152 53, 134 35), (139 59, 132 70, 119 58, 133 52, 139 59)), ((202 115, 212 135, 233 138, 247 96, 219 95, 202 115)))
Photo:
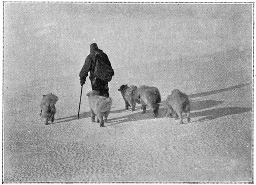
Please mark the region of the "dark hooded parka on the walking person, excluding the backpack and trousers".
MULTIPOLYGON (((108 59, 108 56, 100 49, 98 49, 97 44, 91 44, 91 54, 89 54, 86 59, 85 59, 85 64, 83 65, 80 73, 79 73, 79 77, 80 77, 80 81, 84 84, 85 83, 85 79, 88 76, 88 72, 90 71, 90 76, 89 79, 90 81, 93 81, 94 76, 94 62, 93 62, 93 58, 92 55, 94 52, 99 52, 101 57, 103 58, 104 62, 106 64, 108 64, 109 66, 111 66, 110 61, 108 59)), ((112 67, 112 66, 111 66, 112 67)), ((114 70, 112 72, 112 75, 114 75, 114 70)))

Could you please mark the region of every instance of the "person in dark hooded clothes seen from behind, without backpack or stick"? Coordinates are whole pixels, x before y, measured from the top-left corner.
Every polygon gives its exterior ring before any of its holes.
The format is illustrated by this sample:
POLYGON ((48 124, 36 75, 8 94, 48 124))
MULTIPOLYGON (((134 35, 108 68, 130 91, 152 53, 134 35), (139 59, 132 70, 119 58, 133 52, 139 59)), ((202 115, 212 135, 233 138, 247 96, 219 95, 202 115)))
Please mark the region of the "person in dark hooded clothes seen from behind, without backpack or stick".
POLYGON ((83 86, 85 84, 85 79, 88 76, 88 72, 90 71, 89 79, 91 81, 92 90, 99 91, 100 96, 109 96, 108 93, 108 81, 111 79, 100 79, 95 74, 95 60, 94 56, 95 54, 98 54, 100 56, 101 62, 104 62, 108 66, 110 66, 111 71, 103 71, 103 73, 111 73, 110 76, 114 75, 114 70, 112 69, 112 66, 110 64, 110 61, 108 60, 108 56, 102 52, 102 50, 98 49, 98 46, 96 43, 91 44, 90 46, 91 53, 87 56, 85 59, 85 64, 83 65, 79 77, 80 77, 80 84, 83 86))

